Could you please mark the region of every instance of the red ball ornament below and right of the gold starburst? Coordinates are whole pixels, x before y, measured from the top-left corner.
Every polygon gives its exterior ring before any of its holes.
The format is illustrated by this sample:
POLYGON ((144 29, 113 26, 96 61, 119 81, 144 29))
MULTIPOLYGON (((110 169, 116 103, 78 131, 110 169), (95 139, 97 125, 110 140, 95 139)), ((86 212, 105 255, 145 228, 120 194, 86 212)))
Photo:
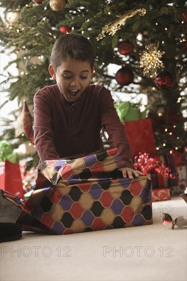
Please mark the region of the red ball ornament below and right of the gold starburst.
POLYGON ((156 84, 160 89, 168 90, 174 85, 174 80, 172 73, 162 71, 156 77, 156 84))

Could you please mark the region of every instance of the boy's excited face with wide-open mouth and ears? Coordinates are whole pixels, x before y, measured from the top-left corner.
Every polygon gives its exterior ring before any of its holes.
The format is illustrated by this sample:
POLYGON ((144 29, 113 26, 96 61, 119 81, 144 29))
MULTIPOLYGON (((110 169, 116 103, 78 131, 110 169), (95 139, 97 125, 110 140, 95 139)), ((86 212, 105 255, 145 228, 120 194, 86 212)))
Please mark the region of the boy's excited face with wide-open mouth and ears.
POLYGON ((58 88, 66 101, 75 102, 89 85, 93 69, 88 61, 66 59, 57 71, 50 64, 50 75, 57 81, 58 88))

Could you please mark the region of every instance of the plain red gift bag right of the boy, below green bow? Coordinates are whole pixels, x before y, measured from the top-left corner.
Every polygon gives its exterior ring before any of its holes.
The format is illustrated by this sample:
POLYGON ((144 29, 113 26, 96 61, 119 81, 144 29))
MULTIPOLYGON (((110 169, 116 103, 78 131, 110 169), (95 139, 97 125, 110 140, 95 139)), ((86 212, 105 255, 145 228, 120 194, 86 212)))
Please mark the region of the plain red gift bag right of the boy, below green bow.
POLYGON ((149 153, 150 156, 156 154, 151 119, 125 122, 123 125, 129 140, 132 158, 139 152, 149 153))

